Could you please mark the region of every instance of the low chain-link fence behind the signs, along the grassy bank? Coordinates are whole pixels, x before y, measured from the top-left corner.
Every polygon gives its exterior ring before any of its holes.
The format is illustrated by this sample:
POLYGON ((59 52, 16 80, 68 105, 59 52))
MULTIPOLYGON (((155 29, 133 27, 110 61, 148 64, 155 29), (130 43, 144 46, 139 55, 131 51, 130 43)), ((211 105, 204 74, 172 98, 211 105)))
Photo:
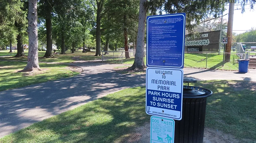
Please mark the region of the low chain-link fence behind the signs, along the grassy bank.
MULTIPOLYGON (((129 64, 134 62, 135 50, 129 51, 108 51, 108 54, 102 51, 102 63, 111 64, 129 64), (126 55, 125 55, 126 53, 126 55), (105 54, 105 55, 104 55, 105 54), (130 57, 130 58, 129 58, 130 57)), ((256 66, 256 53, 224 53, 224 52, 185 52, 184 67, 220 69, 220 70, 238 70, 238 59, 255 58, 255 61, 249 64, 249 67, 256 66), (229 56, 227 61, 225 56, 229 56), (251 65, 251 66, 250 66, 251 65)), ((253 60, 252 60, 253 61, 253 60)), ((146 63, 146 51, 144 52, 144 62, 146 63)))

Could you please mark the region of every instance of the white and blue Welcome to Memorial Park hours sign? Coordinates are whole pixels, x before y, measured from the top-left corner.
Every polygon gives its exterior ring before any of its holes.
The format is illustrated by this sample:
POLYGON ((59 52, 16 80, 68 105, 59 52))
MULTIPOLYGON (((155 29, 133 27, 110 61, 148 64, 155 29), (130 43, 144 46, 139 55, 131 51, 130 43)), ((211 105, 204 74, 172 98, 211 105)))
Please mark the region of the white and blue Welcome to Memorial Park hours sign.
POLYGON ((182 118, 183 70, 146 70, 146 113, 176 120, 182 118))

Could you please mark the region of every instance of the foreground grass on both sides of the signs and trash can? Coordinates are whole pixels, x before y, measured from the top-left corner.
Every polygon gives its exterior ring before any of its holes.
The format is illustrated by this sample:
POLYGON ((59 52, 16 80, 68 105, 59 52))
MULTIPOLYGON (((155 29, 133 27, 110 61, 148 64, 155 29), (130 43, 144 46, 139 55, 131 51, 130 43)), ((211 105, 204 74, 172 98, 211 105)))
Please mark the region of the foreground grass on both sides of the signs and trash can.
MULTIPOLYGON (((229 133, 244 143, 256 140, 255 83, 212 80, 196 85, 213 91, 207 99, 206 127, 229 133)), ((129 88, 32 124, 0 142, 123 142, 135 128, 149 124, 149 118, 145 87, 129 88)))

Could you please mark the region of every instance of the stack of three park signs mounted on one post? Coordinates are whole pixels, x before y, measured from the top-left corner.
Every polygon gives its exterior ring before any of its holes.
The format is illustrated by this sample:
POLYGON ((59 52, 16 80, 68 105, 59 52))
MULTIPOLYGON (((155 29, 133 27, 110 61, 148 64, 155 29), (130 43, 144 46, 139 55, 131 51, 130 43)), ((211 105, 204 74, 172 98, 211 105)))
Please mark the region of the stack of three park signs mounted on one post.
POLYGON ((185 25, 185 13, 147 17, 146 113, 158 116, 150 143, 174 143, 173 119, 182 119, 185 25))

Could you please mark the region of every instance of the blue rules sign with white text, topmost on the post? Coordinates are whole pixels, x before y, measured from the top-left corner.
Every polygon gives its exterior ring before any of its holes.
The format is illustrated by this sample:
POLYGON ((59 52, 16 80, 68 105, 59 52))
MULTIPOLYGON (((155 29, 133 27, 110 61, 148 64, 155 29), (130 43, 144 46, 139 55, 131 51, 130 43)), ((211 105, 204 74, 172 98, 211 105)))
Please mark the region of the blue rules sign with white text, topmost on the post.
POLYGON ((147 66, 184 67, 185 13, 147 17, 147 66))

